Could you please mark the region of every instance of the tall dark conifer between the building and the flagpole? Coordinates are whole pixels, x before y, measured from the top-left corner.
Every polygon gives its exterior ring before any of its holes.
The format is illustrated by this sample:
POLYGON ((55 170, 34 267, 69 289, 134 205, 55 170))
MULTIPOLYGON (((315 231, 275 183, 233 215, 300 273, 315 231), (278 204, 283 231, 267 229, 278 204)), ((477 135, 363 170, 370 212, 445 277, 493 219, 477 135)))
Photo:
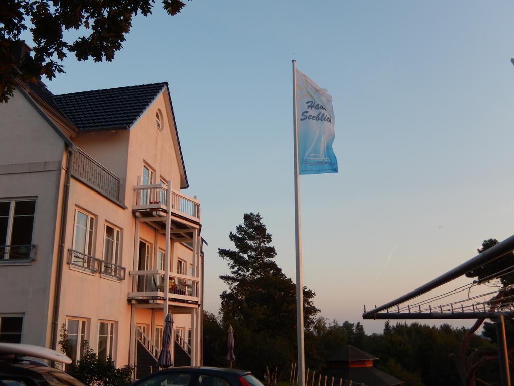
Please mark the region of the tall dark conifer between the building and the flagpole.
MULTIPOLYGON (((221 294, 222 325, 225 331, 230 324, 234 327, 238 367, 259 376, 266 366, 278 367, 280 379, 296 360, 296 285, 274 261, 277 253, 261 216, 247 213, 243 219, 229 234, 235 250, 218 250, 230 269, 230 274, 220 276, 228 285, 221 294)), ((314 296, 303 288, 306 335, 311 334, 319 312, 314 296)))

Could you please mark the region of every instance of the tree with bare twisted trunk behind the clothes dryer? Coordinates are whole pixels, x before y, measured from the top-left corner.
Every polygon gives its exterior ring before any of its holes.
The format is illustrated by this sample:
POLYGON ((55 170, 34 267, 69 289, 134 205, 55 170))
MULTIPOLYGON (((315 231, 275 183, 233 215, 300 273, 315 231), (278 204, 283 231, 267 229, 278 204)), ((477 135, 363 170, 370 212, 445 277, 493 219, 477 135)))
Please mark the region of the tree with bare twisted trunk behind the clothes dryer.
MULTIPOLYGON (((482 242, 482 248, 479 248, 477 251, 483 253, 496 244, 498 244, 497 239, 484 240, 482 242)), ((514 284, 514 273, 512 270, 508 270, 512 266, 512 257, 514 256, 512 252, 510 252, 466 274, 467 277, 476 277, 478 280, 483 280, 485 283, 491 283, 500 288, 498 293, 487 302, 489 307, 488 311, 495 311, 503 305, 511 304, 511 301, 507 301, 505 298, 508 296, 508 299, 510 299, 512 290, 509 289, 509 286, 514 284), (498 274, 502 271, 504 274, 499 276, 498 274)), ((473 326, 466 332, 455 357, 457 371, 464 386, 475 385, 476 373, 484 363, 498 360, 498 352, 493 348, 475 349, 473 352, 468 353, 469 340, 482 326, 484 321, 485 318, 477 319, 473 326)), ((488 323, 486 326, 487 334, 491 329, 491 324, 488 323)))

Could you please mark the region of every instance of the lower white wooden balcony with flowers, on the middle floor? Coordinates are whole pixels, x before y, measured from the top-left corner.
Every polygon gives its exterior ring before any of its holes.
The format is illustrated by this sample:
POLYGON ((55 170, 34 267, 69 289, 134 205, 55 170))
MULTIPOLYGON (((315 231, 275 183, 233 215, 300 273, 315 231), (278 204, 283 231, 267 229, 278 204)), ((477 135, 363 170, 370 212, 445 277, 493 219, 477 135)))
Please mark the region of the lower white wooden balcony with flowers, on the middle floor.
MULTIPOLYGON (((135 280, 135 290, 128 293, 129 299, 164 299, 164 271, 131 271, 135 280)), ((170 273, 168 297, 170 300, 198 302, 197 277, 170 273)))

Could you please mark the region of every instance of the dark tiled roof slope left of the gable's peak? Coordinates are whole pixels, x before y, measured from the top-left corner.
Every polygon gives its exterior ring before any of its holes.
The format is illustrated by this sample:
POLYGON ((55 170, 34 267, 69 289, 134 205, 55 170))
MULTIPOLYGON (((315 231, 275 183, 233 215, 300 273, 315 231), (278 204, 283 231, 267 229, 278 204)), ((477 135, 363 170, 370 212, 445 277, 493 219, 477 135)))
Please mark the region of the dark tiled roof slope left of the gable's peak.
POLYGON ((54 95, 80 131, 127 129, 168 83, 54 95))

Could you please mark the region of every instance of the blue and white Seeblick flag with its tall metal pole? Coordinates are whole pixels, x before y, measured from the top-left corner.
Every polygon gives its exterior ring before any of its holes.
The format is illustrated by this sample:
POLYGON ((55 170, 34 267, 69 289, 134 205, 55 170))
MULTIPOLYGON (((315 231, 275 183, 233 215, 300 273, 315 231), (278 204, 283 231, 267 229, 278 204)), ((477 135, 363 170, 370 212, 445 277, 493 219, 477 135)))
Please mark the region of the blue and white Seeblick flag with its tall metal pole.
POLYGON ((292 61, 293 152, 295 162, 296 295, 298 386, 305 386, 303 337, 302 237, 300 229, 300 174, 337 173, 334 142, 334 108, 325 89, 296 69, 292 61), (300 107, 300 114, 298 108, 300 107), (299 160, 300 158, 300 160, 299 160))

